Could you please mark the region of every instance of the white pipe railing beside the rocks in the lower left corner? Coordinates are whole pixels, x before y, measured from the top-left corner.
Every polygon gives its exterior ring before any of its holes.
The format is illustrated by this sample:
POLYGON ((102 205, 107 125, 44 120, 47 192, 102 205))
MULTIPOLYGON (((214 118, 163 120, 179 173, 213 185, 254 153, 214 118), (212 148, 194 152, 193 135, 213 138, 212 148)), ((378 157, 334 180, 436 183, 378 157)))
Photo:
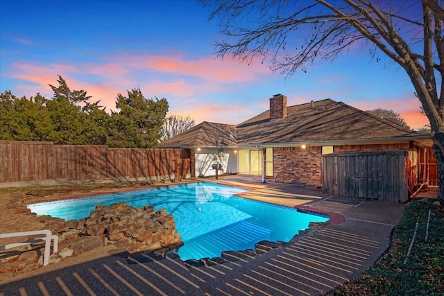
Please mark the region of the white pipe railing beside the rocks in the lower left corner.
POLYGON ((49 253, 51 251, 51 239, 54 241, 53 254, 56 254, 58 252, 58 236, 53 235, 51 233, 51 230, 43 229, 43 230, 35 230, 33 232, 12 232, 10 234, 0 234, 0 238, 11 238, 17 236, 35 236, 39 234, 44 234, 45 236, 42 238, 33 238, 28 241, 24 241, 22 243, 10 243, 8 245, 0 245, 0 250, 8 250, 11 249, 12 247, 31 245, 31 243, 44 241, 43 266, 46 266, 49 263, 49 253))

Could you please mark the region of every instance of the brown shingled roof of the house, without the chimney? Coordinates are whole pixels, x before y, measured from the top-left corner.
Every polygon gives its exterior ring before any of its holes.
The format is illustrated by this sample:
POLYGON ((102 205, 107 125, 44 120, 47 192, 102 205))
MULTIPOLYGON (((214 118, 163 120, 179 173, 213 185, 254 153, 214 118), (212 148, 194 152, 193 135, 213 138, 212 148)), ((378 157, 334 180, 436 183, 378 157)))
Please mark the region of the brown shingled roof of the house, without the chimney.
POLYGON ((289 106, 283 119, 271 120, 270 110, 267 110, 239 125, 203 122, 160 143, 159 147, 339 145, 429 138, 429 135, 327 98, 289 106))

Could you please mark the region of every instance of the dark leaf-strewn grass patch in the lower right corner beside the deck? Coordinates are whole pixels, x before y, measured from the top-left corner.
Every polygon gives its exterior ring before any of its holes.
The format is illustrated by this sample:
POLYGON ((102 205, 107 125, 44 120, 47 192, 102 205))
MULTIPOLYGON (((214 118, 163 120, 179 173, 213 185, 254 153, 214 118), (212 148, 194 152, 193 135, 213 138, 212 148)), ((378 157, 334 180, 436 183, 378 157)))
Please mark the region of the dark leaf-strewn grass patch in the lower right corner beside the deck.
POLYGON ((390 247, 375 265, 359 279, 323 295, 443 295, 444 207, 435 201, 410 202, 393 230, 390 247), (417 221, 416 239, 404 264, 417 221))

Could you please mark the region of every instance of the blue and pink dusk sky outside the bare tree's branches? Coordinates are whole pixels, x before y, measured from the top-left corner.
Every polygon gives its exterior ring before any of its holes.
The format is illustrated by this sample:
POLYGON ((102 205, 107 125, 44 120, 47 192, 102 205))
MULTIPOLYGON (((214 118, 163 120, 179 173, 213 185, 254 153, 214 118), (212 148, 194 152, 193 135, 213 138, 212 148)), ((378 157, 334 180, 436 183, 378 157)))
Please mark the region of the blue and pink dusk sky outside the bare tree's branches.
POLYGON ((196 1, 0 0, 0 92, 51 98, 58 75, 115 110, 117 94, 135 88, 167 98, 168 115, 237 124, 268 110, 274 94, 288 105, 331 98, 398 112, 411 128, 420 114, 407 74, 361 49, 291 77, 267 64, 214 55, 219 28, 196 1))

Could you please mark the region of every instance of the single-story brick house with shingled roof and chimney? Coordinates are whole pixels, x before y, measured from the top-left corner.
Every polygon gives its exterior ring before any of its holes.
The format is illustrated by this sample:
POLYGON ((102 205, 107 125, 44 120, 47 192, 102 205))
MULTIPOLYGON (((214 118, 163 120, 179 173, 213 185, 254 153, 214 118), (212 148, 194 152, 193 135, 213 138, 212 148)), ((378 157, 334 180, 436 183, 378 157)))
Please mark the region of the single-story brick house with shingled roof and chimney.
POLYGON ((159 147, 189 149, 196 176, 214 175, 212 164, 221 164, 219 173, 309 186, 325 185, 327 171, 335 169, 323 167, 323 157, 402 152, 416 182, 437 185, 432 143, 430 134, 330 98, 287 106, 287 96, 277 94, 270 98, 270 110, 247 121, 238 125, 203 122, 159 147))

